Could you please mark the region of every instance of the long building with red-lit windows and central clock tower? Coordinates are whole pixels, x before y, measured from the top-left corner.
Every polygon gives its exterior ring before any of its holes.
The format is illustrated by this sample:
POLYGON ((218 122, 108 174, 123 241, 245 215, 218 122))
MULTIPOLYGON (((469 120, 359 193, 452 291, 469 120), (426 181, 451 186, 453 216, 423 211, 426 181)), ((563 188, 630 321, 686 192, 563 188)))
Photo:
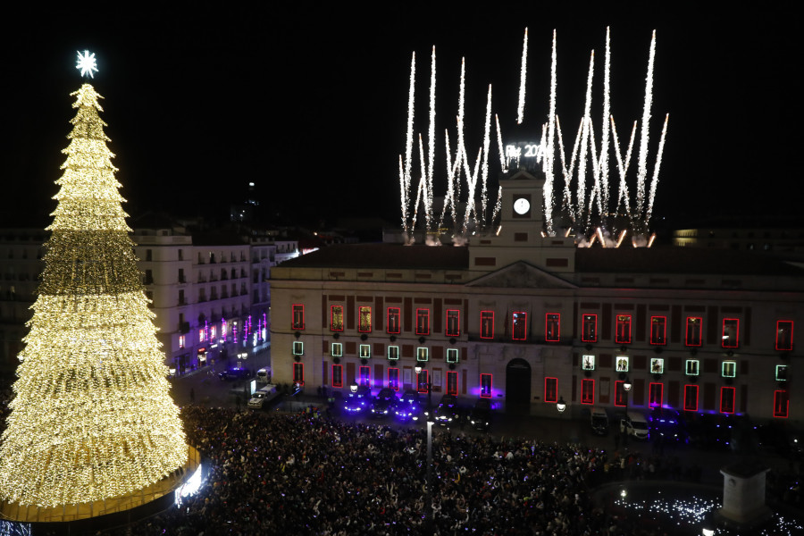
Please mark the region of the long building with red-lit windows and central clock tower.
POLYGON ((577 248, 543 237, 542 180, 516 172, 500 184, 500 229, 468 247, 343 245, 273 268, 274 379, 431 385, 534 415, 557 415, 563 399, 574 413, 804 416, 791 389, 799 267, 736 251, 577 248))

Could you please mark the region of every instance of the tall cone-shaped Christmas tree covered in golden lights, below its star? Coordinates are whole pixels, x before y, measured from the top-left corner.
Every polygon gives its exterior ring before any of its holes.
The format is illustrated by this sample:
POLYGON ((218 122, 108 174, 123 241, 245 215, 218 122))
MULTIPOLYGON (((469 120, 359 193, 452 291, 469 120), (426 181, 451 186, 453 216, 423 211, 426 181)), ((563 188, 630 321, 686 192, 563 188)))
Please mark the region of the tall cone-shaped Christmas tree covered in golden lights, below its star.
POLYGON ((188 457, 101 96, 90 84, 72 95, 78 113, 0 445, 0 498, 37 507, 121 497, 188 457))

